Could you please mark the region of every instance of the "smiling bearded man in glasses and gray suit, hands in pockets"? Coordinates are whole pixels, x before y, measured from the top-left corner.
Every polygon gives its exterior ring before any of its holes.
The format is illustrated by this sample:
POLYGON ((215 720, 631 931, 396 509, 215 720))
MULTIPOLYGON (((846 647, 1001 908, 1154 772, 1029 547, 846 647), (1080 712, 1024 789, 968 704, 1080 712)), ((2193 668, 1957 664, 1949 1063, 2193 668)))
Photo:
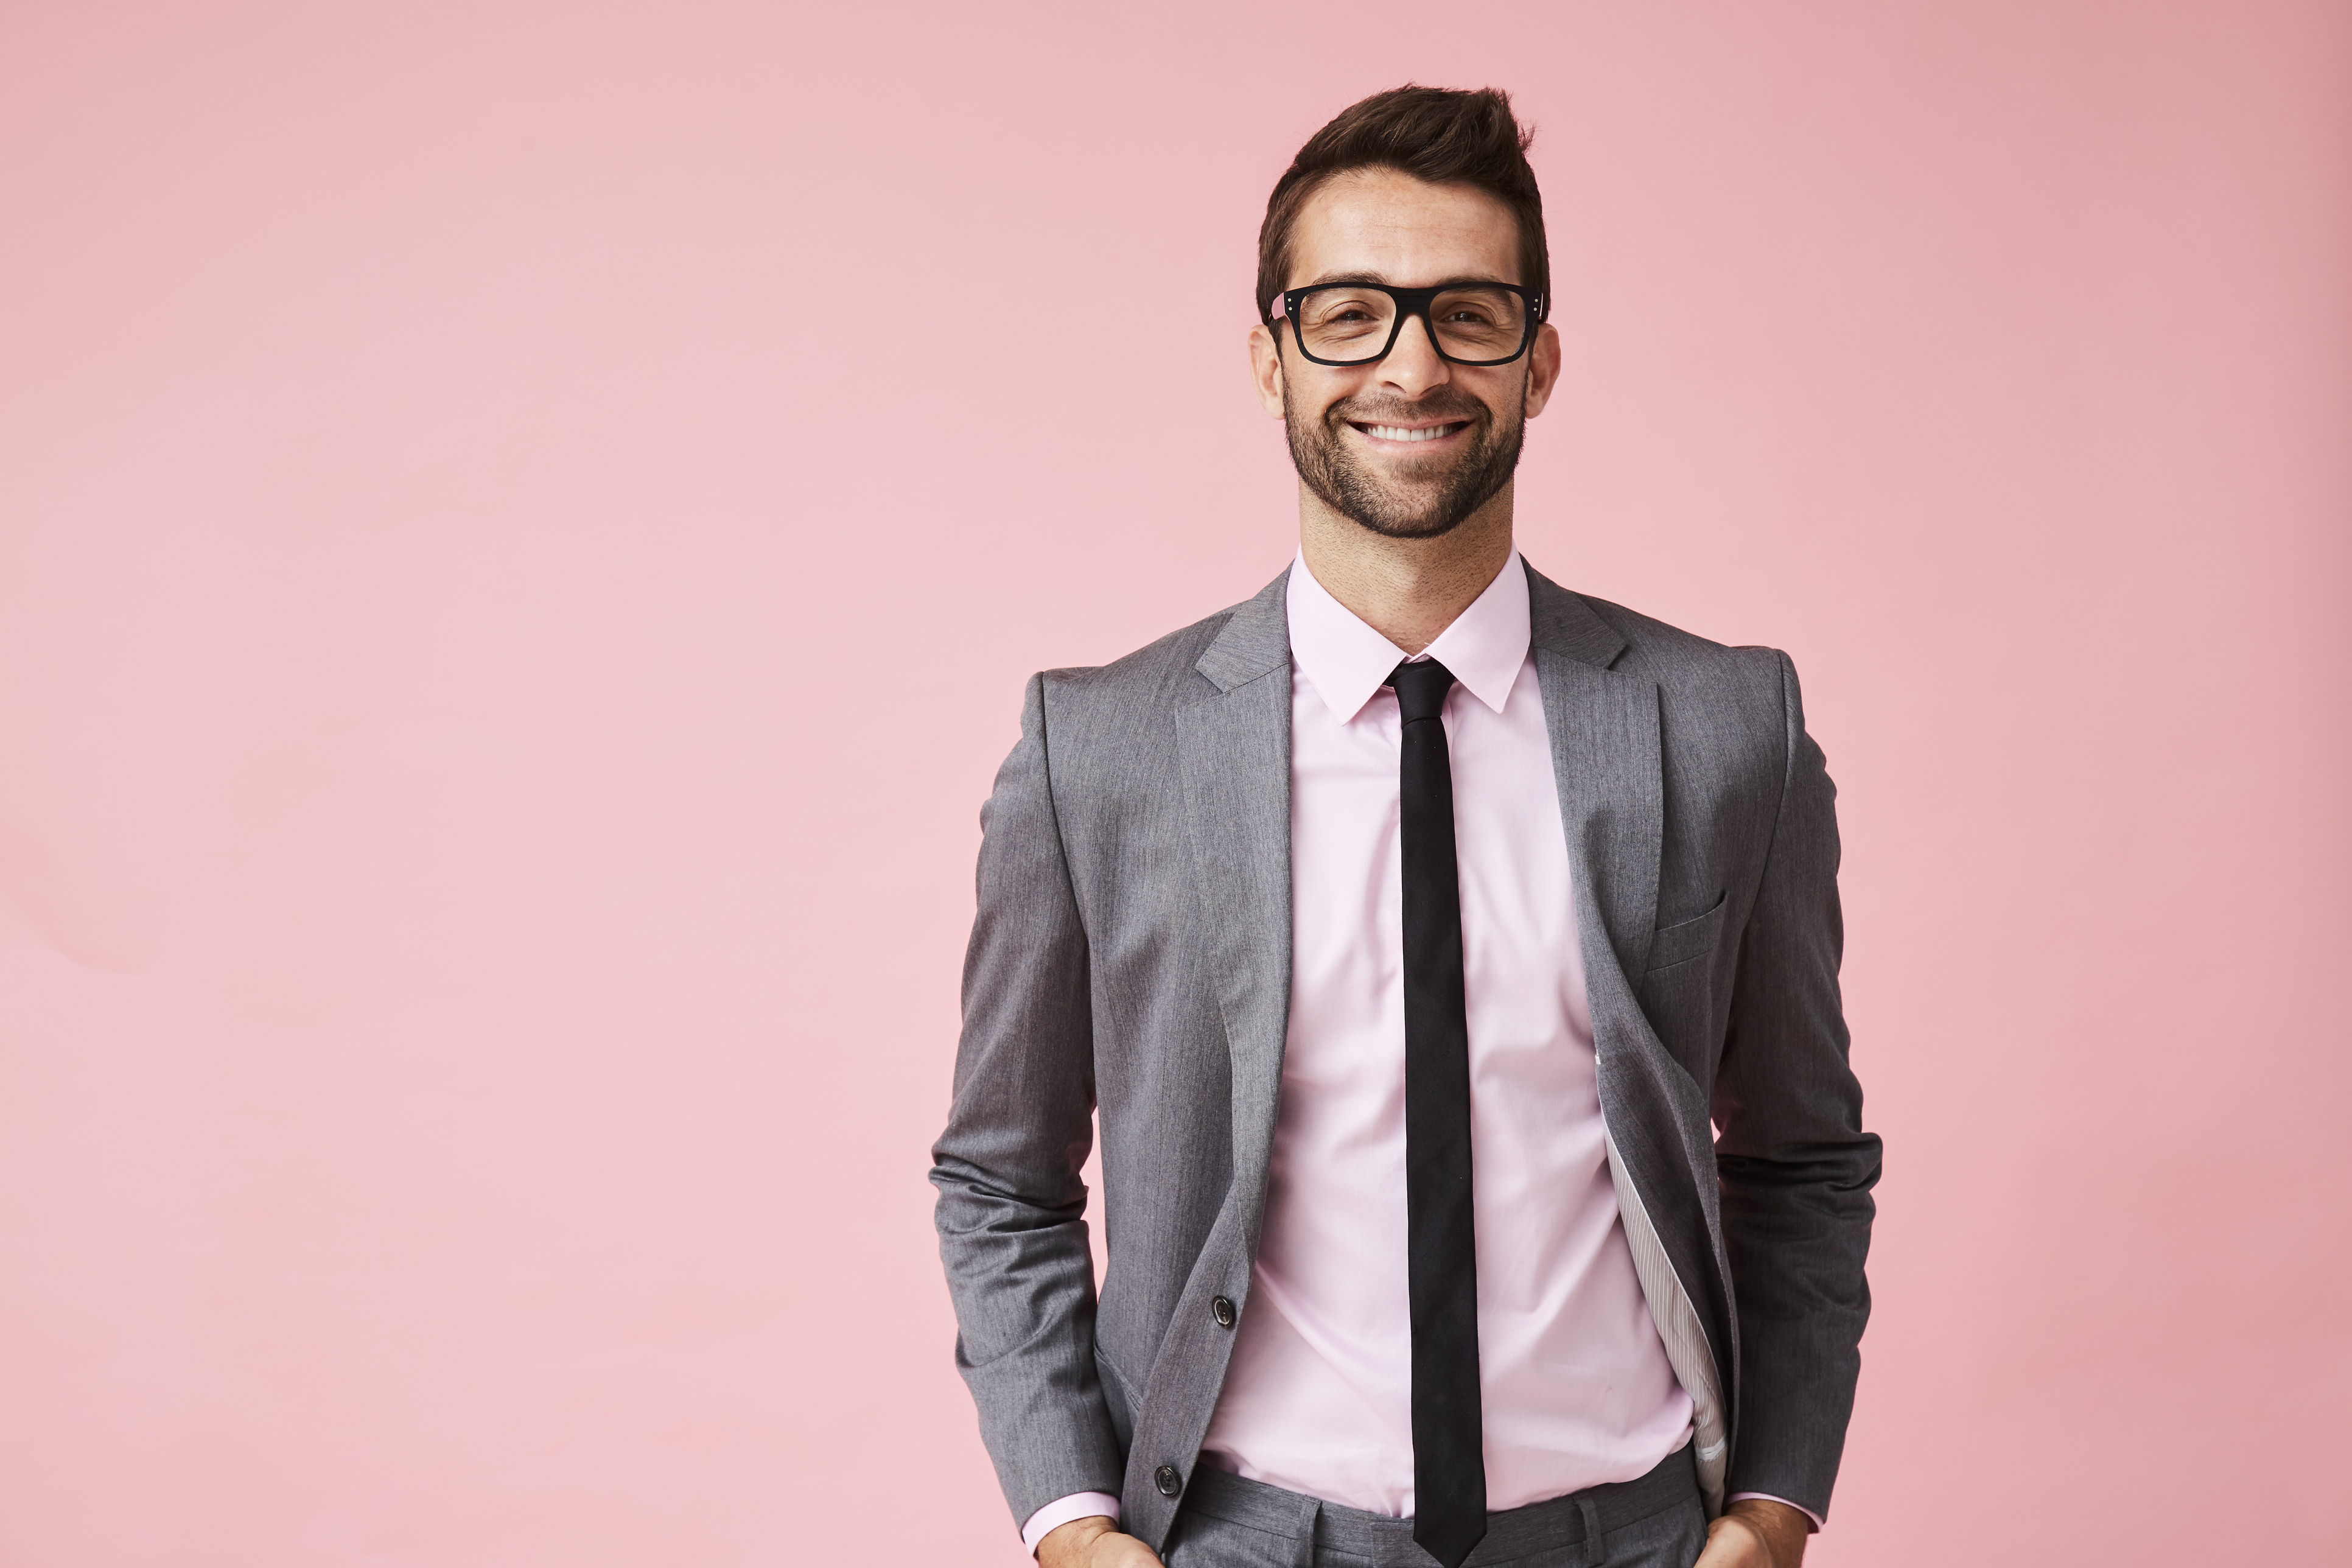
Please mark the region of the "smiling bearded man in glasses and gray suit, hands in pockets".
POLYGON ((931 1180, 1042 1568, 1790 1568, 1828 1512, 1879 1171, 1832 788, 1783 654, 1512 548, 1524 148, 1423 87, 1308 141, 1249 334, 1298 559, 1035 677, 983 813, 931 1180))

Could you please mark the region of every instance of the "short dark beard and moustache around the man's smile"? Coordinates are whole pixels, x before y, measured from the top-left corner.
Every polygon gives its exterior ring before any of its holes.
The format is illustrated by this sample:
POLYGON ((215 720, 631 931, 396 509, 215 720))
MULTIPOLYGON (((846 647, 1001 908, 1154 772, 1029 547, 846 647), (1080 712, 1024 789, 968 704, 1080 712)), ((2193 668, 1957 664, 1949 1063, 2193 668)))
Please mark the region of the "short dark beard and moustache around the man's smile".
POLYGON ((1334 512, 1385 538, 1437 538, 1458 529, 1510 484, 1510 475, 1519 468, 1526 418, 1517 411, 1508 421, 1496 418, 1484 402, 1451 386, 1435 388, 1421 402, 1341 397, 1322 411, 1322 418, 1301 418, 1284 386, 1282 428, 1291 442, 1298 480, 1334 512), (1341 437, 1341 428, 1352 423, 1425 418, 1465 421, 1470 447, 1451 458, 1406 461, 1381 475, 1341 437))

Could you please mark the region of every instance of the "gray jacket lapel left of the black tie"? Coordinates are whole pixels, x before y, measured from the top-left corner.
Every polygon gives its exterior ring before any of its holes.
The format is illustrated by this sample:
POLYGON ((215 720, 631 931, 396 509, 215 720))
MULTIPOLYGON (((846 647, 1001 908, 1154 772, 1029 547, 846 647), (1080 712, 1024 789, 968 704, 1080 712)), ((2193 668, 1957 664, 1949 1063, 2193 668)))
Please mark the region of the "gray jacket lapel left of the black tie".
POLYGON ((1214 686, 1176 710, 1185 835, 1209 973, 1232 1051, 1235 1197, 1254 1251, 1291 1011, 1291 639, 1289 574, 1265 585, 1200 656, 1214 686))

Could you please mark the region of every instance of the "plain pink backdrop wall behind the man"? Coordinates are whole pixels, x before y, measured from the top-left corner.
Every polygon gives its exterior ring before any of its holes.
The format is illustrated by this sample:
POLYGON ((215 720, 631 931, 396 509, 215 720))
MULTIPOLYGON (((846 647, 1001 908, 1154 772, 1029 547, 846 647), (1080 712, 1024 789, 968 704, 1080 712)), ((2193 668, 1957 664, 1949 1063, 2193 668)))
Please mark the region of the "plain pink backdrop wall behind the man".
POLYGON ((1404 78, 1541 127, 1526 552, 1844 785, 1811 1561, 2340 1561, 2352 7, 14 0, 0 1563, 1021 1561, 974 813, 1284 564, 1256 219, 1404 78))

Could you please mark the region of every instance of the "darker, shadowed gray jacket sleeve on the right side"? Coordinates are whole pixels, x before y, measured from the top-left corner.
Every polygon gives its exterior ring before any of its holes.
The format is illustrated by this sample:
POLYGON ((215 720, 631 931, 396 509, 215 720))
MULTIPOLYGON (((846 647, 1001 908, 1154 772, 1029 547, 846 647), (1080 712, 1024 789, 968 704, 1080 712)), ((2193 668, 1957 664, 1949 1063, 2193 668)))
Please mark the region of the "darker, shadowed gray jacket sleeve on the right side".
POLYGON ((1804 733, 1797 670, 1776 658, 1780 813, 1740 938, 1712 1107, 1740 1331, 1726 1490, 1825 1516, 1870 1319, 1863 1258, 1879 1140, 1863 1131, 1837 992, 1837 788, 1804 733))

